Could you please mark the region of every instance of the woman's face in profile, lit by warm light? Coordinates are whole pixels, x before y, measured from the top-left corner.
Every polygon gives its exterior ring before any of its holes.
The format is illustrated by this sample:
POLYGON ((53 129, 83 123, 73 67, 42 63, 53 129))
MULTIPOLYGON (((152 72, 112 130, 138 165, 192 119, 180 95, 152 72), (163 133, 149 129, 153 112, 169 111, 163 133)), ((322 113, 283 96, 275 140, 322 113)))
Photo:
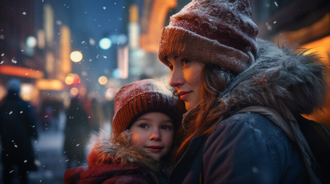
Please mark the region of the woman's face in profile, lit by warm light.
POLYGON ((200 100, 200 75, 205 64, 182 56, 167 56, 167 61, 172 71, 169 85, 178 90, 180 99, 184 101, 186 109, 190 110, 200 100))

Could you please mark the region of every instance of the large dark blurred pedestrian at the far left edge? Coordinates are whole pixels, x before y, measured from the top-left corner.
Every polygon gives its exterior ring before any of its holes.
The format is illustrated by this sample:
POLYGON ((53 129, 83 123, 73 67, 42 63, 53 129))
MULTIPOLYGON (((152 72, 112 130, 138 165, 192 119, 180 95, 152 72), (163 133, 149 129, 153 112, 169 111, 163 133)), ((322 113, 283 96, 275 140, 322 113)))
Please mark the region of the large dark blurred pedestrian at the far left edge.
POLYGON ((21 183, 28 183, 27 172, 36 171, 31 141, 37 140, 36 117, 30 103, 20 98, 21 81, 10 79, 7 96, 0 103, 3 182, 13 183, 15 168, 21 183))

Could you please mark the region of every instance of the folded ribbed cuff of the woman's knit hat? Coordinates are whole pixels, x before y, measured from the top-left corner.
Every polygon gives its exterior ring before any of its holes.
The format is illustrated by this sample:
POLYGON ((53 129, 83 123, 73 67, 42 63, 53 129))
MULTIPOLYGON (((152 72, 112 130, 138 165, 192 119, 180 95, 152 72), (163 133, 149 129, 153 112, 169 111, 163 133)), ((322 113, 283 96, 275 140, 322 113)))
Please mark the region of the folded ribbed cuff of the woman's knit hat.
POLYGON ((227 68, 237 74, 242 73, 254 62, 254 56, 250 51, 244 53, 174 26, 167 26, 162 30, 158 57, 166 65, 167 56, 186 56, 227 68))

